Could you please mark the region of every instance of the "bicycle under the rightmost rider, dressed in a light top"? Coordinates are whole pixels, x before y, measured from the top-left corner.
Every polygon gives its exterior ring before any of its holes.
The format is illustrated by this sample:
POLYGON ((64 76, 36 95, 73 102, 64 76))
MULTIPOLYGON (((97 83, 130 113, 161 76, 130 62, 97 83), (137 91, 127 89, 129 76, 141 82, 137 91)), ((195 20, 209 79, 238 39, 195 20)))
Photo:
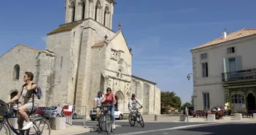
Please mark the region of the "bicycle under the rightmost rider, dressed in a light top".
POLYGON ((140 112, 139 112, 140 109, 141 109, 141 108, 135 108, 135 109, 133 109, 133 110, 135 110, 136 112, 133 113, 134 115, 131 115, 131 114, 129 115, 129 123, 130 123, 130 126, 134 126, 135 123, 136 123, 136 121, 137 121, 137 123, 140 123, 140 126, 141 126, 141 127, 144 127, 144 126, 145 126, 145 124, 144 124, 144 119, 143 119, 142 115, 140 115, 140 112), (137 120, 137 119, 139 119, 139 120, 137 120))

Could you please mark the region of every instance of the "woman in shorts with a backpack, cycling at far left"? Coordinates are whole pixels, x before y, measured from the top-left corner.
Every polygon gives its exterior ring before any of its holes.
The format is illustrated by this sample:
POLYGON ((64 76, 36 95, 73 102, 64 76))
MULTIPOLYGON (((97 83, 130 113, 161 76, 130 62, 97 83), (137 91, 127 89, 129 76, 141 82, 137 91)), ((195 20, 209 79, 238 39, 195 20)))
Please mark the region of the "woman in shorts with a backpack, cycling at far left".
POLYGON ((28 117, 28 113, 31 110, 36 110, 38 108, 38 98, 34 96, 34 108, 33 108, 33 94, 36 92, 37 84, 33 82, 34 74, 30 72, 25 72, 23 76, 23 81, 26 82, 23 84, 22 90, 10 101, 5 101, 6 104, 9 102, 16 101, 20 97, 22 97, 22 106, 18 108, 19 118, 18 118, 18 126, 19 129, 28 130, 30 127, 33 127, 33 123, 30 121, 28 117), (23 126, 23 122, 26 120, 26 125, 23 126))

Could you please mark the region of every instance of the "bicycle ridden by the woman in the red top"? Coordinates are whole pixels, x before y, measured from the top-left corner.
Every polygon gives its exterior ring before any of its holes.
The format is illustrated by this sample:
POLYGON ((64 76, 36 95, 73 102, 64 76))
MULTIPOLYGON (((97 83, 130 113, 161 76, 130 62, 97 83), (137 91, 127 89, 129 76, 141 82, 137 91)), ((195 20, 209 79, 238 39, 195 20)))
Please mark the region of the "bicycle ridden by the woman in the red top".
POLYGON ((112 108, 111 104, 102 105, 105 108, 105 115, 101 116, 101 120, 105 122, 105 131, 106 133, 112 132, 112 120, 111 120, 111 112, 110 109, 112 108))

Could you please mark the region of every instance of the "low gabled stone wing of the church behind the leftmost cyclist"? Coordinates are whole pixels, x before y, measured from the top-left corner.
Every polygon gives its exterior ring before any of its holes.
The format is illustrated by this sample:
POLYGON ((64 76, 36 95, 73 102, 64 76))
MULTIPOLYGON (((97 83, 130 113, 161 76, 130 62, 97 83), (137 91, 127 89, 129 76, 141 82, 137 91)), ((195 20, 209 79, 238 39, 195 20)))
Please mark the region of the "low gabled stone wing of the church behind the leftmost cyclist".
POLYGON ((30 48, 23 44, 18 44, 9 52, 5 53, 0 57, 0 75, 4 76, 4 80, 0 81, 2 86, 2 94, 0 94, 0 99, 6 101, 10 100, 10 94, 12 92, 21 91, 21 87, 24 84, 23 76, 26 71, 34 73, 34 81, 43 90, 43 97, 41 98, 40 106, 44 106, 45 102, 48 101, 48 96, 50 93, 48 89, 47 78, 51 66, 47 63, 52 63, 54 57, 51 55, 46 55, 41 50, 35 48, 30 48), (13 76, 16 73, 14 66, 20 66, 19 80, 14 80, 13 76), (8 83, 9 85, 6 85, 8 83))

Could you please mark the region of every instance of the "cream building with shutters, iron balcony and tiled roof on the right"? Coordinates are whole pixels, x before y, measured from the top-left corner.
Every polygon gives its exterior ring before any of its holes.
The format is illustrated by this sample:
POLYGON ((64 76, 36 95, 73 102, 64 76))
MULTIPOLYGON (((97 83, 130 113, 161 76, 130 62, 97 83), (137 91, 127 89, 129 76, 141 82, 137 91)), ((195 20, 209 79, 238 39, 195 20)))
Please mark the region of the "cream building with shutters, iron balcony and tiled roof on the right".
POLYGON ((194 108, 230 102, 231 109, 255 110, 256 29, 242 29, 192 48, 194 108))

